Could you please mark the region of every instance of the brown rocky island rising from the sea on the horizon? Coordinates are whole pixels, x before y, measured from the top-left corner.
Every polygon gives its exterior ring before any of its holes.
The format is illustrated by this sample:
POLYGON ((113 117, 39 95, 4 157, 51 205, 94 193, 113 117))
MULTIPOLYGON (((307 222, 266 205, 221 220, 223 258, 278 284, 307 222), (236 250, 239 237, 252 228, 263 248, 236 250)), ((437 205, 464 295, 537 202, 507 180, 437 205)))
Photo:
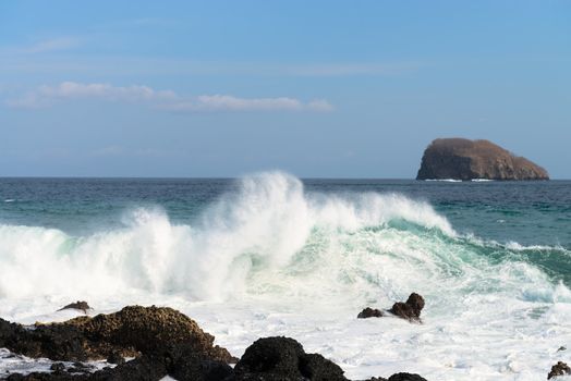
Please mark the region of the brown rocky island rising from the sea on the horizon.
POLYGON ((489 140, 435 139, 416 180, 549 180, 545 169, 489 140))

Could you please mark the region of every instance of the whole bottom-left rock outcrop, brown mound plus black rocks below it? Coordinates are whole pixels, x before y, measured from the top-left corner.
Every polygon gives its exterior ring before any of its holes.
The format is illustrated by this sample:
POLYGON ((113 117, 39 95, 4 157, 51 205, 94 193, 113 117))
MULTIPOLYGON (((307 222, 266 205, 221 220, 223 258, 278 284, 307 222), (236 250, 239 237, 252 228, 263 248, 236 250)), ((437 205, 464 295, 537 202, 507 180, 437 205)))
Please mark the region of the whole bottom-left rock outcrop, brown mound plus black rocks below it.
POLYGON ((74 362, 66 371, 54 364, 53 373, 11 374, 13 381, 156 381, 169 373, 179 381, 232 380, 233 369, 227 361, 236 360, 215 346, 214 336, 194 320, 158 307, 125 307, 116 314, 36 324, 34 329, 0 320, 0 341, 2 346, 31 357, 66 361, 107 358, 119 364, 95 372, 82 362, 74 362), (136 358, 125 362, 124 356, 136 358))

